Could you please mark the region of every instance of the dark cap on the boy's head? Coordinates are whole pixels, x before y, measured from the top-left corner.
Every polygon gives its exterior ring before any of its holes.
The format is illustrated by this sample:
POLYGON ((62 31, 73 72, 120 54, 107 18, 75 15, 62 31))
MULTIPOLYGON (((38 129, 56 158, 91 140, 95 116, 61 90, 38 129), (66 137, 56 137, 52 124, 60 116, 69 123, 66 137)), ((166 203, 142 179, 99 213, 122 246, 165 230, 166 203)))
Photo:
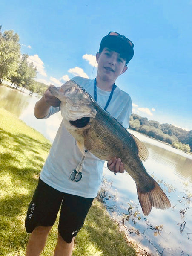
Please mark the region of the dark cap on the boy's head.
POLYGON ((126 65, 133 58, 134 55, 134 44, 124 35, 120 35, 117 32, 109 32, 108 35, 104 36, 100 42, 99 52, 103 51, 103 48, 109 48, 112 51, 120 53, 122 58, 126 60, 126 65))

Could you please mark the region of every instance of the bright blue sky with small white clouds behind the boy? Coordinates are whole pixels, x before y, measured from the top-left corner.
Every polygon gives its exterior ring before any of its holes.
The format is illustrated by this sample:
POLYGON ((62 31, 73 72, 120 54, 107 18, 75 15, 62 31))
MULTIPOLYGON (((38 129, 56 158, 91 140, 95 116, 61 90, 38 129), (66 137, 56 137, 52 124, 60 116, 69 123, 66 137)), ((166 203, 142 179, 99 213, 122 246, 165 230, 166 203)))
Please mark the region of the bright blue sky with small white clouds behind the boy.
POLYGON ((20 36, 38 81, 60 86, 95 78, 95 54, 109 31, 135 44, 116 84, 133 113, 192 129, 192 0, 2 0, 0 24, 20 36))

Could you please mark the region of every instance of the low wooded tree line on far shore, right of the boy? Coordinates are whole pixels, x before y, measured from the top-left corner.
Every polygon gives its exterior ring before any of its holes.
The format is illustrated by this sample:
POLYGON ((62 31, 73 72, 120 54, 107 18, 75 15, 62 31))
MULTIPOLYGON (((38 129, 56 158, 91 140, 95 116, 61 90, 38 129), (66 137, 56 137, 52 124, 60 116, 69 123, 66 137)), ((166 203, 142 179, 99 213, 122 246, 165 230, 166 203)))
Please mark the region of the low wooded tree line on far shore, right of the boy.
POLYGON ((158 121, 148 120, 137 114, 132 114, 130 117, 130 129, 168 143, 174 148, 192 152, 192 130, 186 131, 167 123, 160 124, 158 121))

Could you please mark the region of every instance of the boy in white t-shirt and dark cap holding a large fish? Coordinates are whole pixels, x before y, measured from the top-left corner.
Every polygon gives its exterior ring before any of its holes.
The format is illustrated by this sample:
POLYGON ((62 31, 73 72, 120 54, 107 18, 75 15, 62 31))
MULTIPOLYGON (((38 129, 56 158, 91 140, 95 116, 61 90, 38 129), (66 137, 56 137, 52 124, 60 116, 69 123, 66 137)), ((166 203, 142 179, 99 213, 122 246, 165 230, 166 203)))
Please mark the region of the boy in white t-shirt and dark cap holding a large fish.
MULTIPOLYGON (((125 128, 129 127, 132 101, 127 93, 115 85, 115 80, 127 70, 127 64, 134 55, 133 46, 125 36, 109 32, 101 40, 99 52, 96 54, 96 79, 73 78, 125 128)), ((34 115, 37 118, 48 118, 60 110, 60 101, 52 96, 49 88, 35 105, 34 115)), ((75 236, 83 226, 92 201, 97 195, 104 163, 88 151, 82 175, 76 177, 74 170, 81 157, 75 139, 61 122, 27 212, 26 231, 31 235, 26 256, 40 255, 60 205, 58 240, 54 256, 72 255, 75 236)), ((112 158, 107 166, 115 173, 124 172, 120 158, 112 158)))

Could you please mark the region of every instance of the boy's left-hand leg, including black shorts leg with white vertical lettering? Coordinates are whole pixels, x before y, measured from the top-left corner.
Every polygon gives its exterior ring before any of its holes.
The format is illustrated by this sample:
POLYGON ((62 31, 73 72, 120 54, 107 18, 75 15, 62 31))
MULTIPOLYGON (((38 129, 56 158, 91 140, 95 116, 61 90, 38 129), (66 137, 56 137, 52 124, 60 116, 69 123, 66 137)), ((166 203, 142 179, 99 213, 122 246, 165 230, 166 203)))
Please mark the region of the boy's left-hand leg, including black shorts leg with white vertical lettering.
POLYGON ((63 195, 39 179, 25 221, 26 231, 32 233, 27 245, 27 256, 40 255, 43 250, 48 233, 57 218, 63 195))

